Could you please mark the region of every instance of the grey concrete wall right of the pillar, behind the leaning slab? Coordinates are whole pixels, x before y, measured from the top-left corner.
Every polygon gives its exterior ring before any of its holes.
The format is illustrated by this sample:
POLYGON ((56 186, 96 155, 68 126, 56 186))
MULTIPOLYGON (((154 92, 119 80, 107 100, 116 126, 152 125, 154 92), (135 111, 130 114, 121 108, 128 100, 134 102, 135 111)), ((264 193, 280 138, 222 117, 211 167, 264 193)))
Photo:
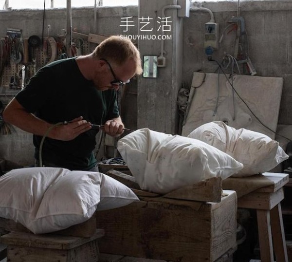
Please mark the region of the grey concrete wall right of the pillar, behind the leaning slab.
MULTIPOLYGON (((194 5, 197 5, 194 3, 194 5)), ((222 30, 232 16, 237 16, 237 1, 204 3, 213 11, 222 30)), ((249 56, 259 76, 284 78, 279 124, 292 124, 292 1, 241 1, 240 16, 245 19, 249 39, 249 56)), ((206 12, 191 11, 184 21, 183 79, 190 85, 192 72, 213 73, 217 64, 209 62, 203 48, 203 24, 210 20, 206 12)), ((226 34, 214 58, 224 52, 233 54, 235 33, 226 34)))

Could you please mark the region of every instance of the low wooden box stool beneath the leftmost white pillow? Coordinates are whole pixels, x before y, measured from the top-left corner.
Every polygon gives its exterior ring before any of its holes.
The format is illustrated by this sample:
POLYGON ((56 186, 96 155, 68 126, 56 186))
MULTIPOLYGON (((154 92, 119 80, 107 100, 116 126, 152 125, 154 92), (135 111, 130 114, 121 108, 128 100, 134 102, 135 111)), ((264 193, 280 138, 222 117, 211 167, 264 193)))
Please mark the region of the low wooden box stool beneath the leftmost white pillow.
POLYGON ((90 238, 12 232, 0 242, 8 245, 7 262, 97 262, 97 240, 102 236, 103 229, 90 238))

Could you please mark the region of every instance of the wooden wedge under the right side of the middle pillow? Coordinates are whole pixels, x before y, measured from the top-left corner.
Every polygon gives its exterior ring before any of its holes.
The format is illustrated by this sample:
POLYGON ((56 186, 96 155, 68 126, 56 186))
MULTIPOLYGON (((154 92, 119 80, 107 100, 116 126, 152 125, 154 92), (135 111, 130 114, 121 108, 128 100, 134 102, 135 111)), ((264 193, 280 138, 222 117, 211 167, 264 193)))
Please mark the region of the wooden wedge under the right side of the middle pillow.
POLYGON ((181 187, 165 194, 163 197, 218 203, 221 201, 221 190, 222 179, 220 177, 213 177, 191 186, 181 187))

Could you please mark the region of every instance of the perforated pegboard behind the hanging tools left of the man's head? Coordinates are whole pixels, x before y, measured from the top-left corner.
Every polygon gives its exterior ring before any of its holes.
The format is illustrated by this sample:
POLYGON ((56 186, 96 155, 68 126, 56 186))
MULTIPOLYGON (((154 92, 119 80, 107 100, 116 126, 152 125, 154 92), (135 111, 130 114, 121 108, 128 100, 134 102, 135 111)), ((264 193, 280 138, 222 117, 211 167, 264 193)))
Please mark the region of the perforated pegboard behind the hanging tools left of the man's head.
MULTIPOLYGON (((73 39, 73 41, 79 38, 73 39)), ((78 43, 77 43, 78 44, 78 43)), ((80 44, 79 44, 80 45, 80 44)), ((83 40, 82 46, 79 47, 79 50, 81 52, 75 52, 74 55, 87 55, 90 54, 90 43, 87 40, 83 40)), ((56 60, 59 59, 59 56, 61 53, 64 53, 64 50, 62 48, 57 48, 57 56, 56 60)), ((3 75, 2 75, 2 81, 1 81, 1 87, 3 88, 9 88, 9 89, 15 89, 15 90, 21 90, 22 85, 22 66, 25 65, 25 79, 24 79, 24 86, 28 83, 29 79, 37 72, 38 69, 43 67, 48 63, 52 55, 52 50, 49 44, 45 42, 43 47, 36 47, 32 48, 30 50, 30 57, 35 59, 35 63, 33 61, 30 61, 26 64, 20 63, 16 64, 14 63, 13 59, 8 59, 3 75), (17 86, 12 86, 12 77, 17 77, 17 86)))

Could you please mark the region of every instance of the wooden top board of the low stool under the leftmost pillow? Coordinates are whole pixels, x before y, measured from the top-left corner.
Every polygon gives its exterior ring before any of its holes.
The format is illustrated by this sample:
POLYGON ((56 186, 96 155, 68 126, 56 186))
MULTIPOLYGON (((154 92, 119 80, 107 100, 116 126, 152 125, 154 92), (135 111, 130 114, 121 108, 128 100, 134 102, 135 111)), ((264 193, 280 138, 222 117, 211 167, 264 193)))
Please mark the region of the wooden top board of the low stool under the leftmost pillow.
POLYGON ((71 249, 104 236, 103 229, 96 229, 90 238, 60 236, 54 234, 35 235, 31 233, 9 233, 0 237, 0 242, 9 245, 37 248, 71 249))

